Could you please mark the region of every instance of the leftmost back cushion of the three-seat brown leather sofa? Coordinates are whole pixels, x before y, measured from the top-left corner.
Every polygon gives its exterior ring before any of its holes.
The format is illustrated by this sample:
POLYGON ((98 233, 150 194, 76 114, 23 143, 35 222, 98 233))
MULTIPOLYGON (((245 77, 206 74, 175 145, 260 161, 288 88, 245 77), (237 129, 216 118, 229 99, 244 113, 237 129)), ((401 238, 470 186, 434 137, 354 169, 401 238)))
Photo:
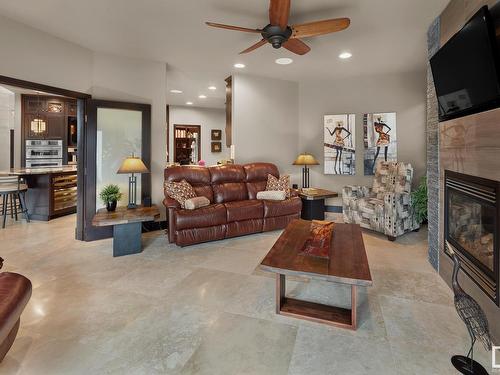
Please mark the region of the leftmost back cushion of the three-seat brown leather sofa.
POLYGON ((164 175, 167 182, 186 180, 191 184, 198 197, 203 196, 208 198, 210 202, 214 201, 208 168, 195 165, 168 167, 165 168, 164 175))

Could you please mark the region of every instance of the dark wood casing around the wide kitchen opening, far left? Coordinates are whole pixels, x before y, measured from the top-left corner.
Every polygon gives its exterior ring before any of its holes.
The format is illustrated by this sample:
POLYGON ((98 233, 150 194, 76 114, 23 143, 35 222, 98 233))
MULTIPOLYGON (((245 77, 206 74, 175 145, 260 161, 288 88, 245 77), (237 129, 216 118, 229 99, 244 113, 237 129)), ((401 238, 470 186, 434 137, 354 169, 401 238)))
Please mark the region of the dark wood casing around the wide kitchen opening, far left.
MULTIPOLYGON (((92 96, 78 91, 66 90, 60 87, 44 85, 36 82, 25 81, 22 79, 12 78, 0 75, 0 84, 9 85, 14 87, 19 87, 28 90, 42 91, 50 94, 57 94, 65 96, 68 98, 77 99, 77 133, 78 133, 78 149, 83 150, 85 145, 85 118, 86 118, 86 106, 87 100, 91 99, 92 96)), ((78 157, 78 182, 77 182, 77 220, 75 229, 75 238, 77 240, 84 239, 84 218, 85 218, 85 160, 80 152, 78 157)))

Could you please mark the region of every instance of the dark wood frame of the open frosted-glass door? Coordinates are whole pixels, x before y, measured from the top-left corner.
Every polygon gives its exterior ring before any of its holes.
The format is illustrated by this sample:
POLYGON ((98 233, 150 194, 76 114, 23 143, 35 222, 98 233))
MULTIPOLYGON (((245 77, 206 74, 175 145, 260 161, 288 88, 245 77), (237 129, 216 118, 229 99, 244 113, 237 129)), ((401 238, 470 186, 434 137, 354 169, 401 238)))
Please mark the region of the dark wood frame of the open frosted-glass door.
MULTIPOLYGON (((82 150, 85 163, 85 212, 84 236, 85 241, 94 241, 109 238, 113 235, 111 227, 94 227, 92 218, 95 214, 96 204, 96 141, 97 141, 97 109, 125 109, 142 112, 142 145, 141 158, 146 167, 151 170, 151 105, 127 102, 114 102, 109 100, 87 101, 87 126, 85 128, 85 145, 82 150)), ((80 140, 80 137, 78 138, 80 140)), ((78 144, 80 148, 80 144, 78 144)), ((80 170, 79 170, 80 171, 80 170)), ((151 196, 151 174, 141 174, 141 202, 145 197, 151 196)))

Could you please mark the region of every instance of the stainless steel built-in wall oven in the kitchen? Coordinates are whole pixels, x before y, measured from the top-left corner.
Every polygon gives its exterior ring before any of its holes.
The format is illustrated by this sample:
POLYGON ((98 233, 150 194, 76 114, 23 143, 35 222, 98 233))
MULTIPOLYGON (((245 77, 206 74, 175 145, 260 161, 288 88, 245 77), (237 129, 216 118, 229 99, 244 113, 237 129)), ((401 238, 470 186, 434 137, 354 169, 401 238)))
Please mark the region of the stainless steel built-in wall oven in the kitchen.
POLYGON ((58 139, 26 141, 26 167, 59 167, 63 162, 63 144, 58 139))

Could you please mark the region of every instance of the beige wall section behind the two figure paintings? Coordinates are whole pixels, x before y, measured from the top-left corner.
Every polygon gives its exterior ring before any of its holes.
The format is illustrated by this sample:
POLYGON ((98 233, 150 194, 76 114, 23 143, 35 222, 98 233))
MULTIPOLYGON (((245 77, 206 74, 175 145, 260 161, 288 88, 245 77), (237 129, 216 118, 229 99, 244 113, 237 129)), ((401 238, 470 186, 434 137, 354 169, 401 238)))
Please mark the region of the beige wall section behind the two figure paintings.
POLYGON ((415 184, 425 175, 425 72, 307 82, 300 84, 299 92, 299 149, 312 153, 321 164, 311 168, 311 186, 334 191, 350 184, 371 186, 372 177, 363 175, 363 114, 371 112, 397 113, 398 160, 413 165, 415 184), (356 175, 325 175, 323 116, 343 113, 356 114, 356 175))

